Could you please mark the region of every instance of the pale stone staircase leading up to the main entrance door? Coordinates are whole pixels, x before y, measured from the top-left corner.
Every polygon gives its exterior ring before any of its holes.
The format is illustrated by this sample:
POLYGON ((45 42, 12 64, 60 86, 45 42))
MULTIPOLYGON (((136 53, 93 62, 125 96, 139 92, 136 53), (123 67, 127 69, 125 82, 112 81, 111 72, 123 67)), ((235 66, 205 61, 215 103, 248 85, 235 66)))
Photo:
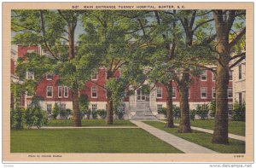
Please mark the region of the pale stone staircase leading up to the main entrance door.
POLYGON ((136 114, 132 116, 134 120, 154 120, 157 119, 151 112, 149 107, 149 101, 137 101, 136 114))

